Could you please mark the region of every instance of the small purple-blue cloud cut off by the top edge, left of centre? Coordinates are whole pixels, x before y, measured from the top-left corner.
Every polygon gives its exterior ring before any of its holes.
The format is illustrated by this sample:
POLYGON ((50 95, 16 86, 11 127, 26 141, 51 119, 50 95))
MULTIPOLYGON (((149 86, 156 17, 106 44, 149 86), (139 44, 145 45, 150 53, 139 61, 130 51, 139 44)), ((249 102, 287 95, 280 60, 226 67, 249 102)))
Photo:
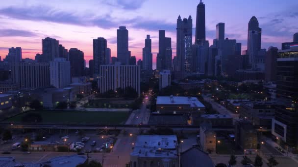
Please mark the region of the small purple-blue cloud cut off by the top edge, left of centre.
POLYGON ((120 7, 125 10, 136 10, 142 7, 146 0, 102 0, 105 4, 120 7))

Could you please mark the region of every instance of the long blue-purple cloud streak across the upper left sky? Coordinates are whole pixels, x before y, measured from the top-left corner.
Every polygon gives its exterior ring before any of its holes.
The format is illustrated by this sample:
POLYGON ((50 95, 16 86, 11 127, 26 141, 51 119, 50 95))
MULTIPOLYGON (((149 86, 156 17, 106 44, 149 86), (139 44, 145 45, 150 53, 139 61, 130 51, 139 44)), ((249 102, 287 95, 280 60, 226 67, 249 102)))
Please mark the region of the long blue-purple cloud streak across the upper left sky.
POLYGON ((0 9, 0 15, 18 20, 48 21, 62 24, 73 24, 81 26, 98 26, 101 28, 116 27, 117 23, 112 21, 109 15, 79 16, 74 12, 60 11, 49 6, 10 6, 0 9))

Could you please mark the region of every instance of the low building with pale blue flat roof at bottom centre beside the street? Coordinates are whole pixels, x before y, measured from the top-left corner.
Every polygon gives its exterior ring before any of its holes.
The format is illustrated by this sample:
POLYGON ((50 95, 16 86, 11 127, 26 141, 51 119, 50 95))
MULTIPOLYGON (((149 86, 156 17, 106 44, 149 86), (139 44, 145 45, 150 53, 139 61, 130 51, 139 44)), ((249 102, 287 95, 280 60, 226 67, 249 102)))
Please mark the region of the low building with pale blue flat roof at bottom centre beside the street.
POLYGON ((130 167, 178 167, 175 135, 139 135, 130 153, 130 167))

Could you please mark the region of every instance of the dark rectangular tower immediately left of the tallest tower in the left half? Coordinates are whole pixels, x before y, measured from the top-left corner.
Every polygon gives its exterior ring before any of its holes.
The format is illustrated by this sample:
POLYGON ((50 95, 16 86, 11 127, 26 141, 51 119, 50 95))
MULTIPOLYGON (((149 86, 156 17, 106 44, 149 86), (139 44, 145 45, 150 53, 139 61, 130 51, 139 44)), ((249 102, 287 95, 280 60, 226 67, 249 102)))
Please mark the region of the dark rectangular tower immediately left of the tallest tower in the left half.
POLYGON ((106 57, 107 42, 100 37, 93 40, 94 74, 99 74, 99 66, 107 64, 106 57))

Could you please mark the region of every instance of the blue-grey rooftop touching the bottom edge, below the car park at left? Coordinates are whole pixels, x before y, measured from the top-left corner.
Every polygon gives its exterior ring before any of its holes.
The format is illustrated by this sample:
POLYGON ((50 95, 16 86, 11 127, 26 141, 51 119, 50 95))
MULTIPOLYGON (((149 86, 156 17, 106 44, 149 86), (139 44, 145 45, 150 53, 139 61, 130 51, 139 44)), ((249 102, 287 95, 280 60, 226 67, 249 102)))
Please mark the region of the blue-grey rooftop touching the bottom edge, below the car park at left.
POLYGON ((85 156, 70 155, 54 157, 43 164, 50 165, 50 167, 75 167, 79 164, 83 164, 87 160, 85 156))

